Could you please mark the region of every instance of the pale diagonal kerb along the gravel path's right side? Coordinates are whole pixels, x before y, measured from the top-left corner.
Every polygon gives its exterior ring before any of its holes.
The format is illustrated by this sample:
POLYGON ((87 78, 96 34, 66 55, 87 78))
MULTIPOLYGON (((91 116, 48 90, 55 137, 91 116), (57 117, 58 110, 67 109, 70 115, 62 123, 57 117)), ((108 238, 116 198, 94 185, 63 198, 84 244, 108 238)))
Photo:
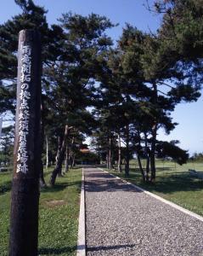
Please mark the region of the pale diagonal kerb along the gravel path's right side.
POLYGON ((162 198, 161 196, 155 195, 154 193, 151 193, 148 190, 143 189, 143 188, 141 188, 141 187, 139 187, 139 186, 137 186, 137 185, 135 185, 133 183, 129 183, 129 182, 127 182, 127 180, 125 180, 125 179, 123 179, 121 177, 117 177, 116 175, 114 175, 114 174, 112 174, 110 172, 107 172, 107 171, 103 170, 102 168, 98 167, 98 169, 103 171, 103 172, 109 173, 112 177, 116 177, 117 179, 120 179, 123 183, 129 184, 129 185, 133 186, 133 188, 138 189, 139 191, 142 191, 145 194, 150 195, 150 196, 154 197, 155 199, 157 199, 159 201, 162 201, 162 202, 166 203, 167 205, 169 205, 171 207, 173 207, 175 209, 178 209, 180 212, 184 212, 185 214, 187 214, 187 215, 189 215, 189 216, 191 216, 193 218, 197 218, 198 220, 203 222, 203 217, 200 216, 199 214, 197 214, 195 212, 191 212, 191 211, 189 211, 189 210, 187 210, 187 209, 185 209, 183 207, 180 207, 177 204, 173 203, 172 201, 167 201, 166 199, 162 198))

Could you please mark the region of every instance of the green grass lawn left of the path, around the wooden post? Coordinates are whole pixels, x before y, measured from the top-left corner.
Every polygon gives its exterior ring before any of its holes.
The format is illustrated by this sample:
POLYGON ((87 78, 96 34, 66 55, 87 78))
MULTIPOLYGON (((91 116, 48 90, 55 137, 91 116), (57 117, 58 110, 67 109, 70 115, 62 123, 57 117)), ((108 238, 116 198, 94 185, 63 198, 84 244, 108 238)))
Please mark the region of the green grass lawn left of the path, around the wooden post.
MULTIPOLYGON (((48 182, 50 170, 46 172, 48 182)), ((54 188, 42 189, 39 254, 76 255, 82 169, 57 177, 54 188)), ((0 255, 8 255, 11 173, 0 173, 0 255)))

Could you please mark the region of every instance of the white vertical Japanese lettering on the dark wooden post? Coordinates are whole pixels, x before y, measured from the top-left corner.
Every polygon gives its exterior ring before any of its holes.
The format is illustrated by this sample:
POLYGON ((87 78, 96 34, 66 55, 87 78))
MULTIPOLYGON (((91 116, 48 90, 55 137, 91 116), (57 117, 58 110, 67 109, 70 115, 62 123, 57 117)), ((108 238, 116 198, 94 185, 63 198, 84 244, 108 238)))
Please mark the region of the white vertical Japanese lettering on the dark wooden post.
POLYGON ((19 148, 17 153, 16 172, 28 172, 27 137, 29 133, 30 101, 29 92, 31 82, 31 46, 21 44, 21 70, 20 70, 20 112, 19 112, 19 148))

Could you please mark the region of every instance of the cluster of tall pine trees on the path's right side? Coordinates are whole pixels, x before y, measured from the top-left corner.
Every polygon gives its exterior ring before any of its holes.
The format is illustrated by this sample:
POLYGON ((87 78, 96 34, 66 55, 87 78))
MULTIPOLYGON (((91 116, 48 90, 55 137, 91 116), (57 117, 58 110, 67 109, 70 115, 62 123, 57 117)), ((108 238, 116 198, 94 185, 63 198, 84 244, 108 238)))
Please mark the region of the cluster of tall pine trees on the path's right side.
POLYGON ((109 75, 101 78, 100 87, 99 128, 104 134, 101 139, 99 131, 93 143, 98 150, 108 151, 109 167, 116 148, 118 171, 122 149, 126 175, 133 154, 137 154, 146 181, 149 172, 150 180, 155 179, 155 156, 172 157, 178 164, 188 159, 187 152, 178 148, 178 141, 158 141, 156 135, 160 128, 168 134, 178 125, 171 118, 178 103, 193 102, 200 96, 203 9, 197 2, 155 2, 155 11, 164 14, 157 34, 127 25, 117 48, 111 51, 109 75), (121 141, 125 148, 121 148, 121 141), (145 168, 142 157, 146 159, 145 168))

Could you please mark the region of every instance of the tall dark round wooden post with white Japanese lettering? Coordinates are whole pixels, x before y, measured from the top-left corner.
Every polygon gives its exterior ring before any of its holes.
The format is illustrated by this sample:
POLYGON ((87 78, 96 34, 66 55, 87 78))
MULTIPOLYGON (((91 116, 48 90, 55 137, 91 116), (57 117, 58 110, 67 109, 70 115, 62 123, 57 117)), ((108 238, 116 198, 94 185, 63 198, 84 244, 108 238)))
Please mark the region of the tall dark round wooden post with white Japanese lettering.
POLYGON ((20 31, 9 256, 38 255, 42 145, 40 41, 37 30, 20 31))

